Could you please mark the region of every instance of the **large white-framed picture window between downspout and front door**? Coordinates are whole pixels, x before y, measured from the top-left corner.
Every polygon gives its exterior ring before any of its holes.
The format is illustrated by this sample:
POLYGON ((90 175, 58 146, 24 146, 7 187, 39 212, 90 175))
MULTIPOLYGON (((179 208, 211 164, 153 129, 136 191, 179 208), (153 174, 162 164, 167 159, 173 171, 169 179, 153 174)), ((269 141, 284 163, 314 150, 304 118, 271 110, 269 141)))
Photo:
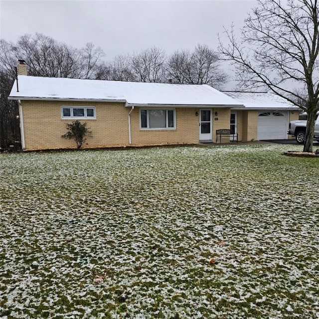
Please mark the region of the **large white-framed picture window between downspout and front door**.
POLYGON ((141 110, 141 129, 175 129, 175 110, 141 110))

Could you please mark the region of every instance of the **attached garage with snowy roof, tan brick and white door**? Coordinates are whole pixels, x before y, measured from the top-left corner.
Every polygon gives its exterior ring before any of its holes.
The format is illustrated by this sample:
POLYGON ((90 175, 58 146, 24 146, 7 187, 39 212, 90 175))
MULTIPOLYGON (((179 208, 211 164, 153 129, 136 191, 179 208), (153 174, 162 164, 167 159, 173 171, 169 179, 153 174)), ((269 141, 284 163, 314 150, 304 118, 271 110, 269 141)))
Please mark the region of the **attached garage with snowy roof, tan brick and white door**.
POLYGON ((292 138, 287 134, 289 122, 298 120, 300 111, 292 103, 269 92, 223 93, 245 105, 244 111, 241 108, 232 108, 231 116, 238 129, 242 130, 246 141, 292 138))

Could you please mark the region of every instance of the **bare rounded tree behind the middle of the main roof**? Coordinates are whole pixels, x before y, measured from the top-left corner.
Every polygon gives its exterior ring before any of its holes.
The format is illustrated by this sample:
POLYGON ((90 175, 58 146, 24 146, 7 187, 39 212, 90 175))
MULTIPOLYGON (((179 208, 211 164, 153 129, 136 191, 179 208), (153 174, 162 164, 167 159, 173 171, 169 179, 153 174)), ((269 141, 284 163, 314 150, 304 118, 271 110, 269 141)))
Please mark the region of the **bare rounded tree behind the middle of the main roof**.
POLYGON ((165 82, 165 61, 165 51, 155 46, 134 54, 131 66, 135 78, 140 82, 165 82))

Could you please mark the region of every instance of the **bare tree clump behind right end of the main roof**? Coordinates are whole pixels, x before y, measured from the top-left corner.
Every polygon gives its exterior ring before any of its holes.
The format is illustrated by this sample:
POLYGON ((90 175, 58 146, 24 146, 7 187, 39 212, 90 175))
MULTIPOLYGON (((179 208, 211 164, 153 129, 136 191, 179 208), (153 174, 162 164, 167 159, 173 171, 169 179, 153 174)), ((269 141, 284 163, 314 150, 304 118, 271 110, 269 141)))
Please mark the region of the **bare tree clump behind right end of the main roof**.
POLYGON ((193 52, 174 52, 168 60, 167 71, 175 83, 208 84, 220 88, 227 81, 220 61, 216 51, 198 44, 193 52))

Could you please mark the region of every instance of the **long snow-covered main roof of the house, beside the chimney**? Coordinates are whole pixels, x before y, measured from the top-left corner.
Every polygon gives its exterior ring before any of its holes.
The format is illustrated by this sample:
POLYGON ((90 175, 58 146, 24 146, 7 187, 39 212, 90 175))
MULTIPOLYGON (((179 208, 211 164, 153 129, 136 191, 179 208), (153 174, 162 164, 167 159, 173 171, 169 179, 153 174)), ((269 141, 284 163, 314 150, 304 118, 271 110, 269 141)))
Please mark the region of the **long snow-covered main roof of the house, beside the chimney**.
POLYGON ((130 105, 241 106, 209 85, 164 84, 18 76, 11 100, 119 101, 130 105))

